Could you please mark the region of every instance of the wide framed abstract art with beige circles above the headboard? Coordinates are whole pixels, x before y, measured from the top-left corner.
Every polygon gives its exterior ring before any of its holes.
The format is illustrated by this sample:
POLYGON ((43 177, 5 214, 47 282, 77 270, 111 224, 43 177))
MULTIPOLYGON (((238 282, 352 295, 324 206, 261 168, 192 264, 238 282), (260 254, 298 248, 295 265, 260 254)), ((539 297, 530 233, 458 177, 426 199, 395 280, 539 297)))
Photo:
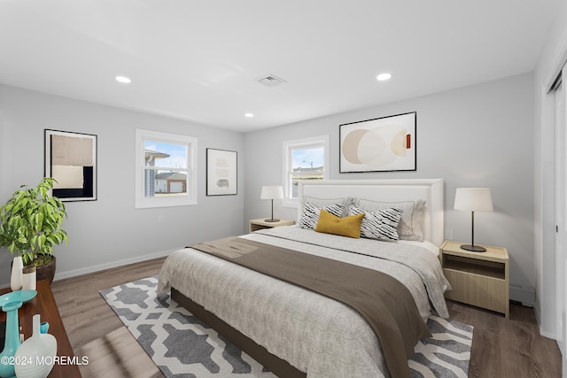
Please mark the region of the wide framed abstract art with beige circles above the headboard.
POLYGON ((339 126, 339 173, 416 171, 417 112, 339 126))

